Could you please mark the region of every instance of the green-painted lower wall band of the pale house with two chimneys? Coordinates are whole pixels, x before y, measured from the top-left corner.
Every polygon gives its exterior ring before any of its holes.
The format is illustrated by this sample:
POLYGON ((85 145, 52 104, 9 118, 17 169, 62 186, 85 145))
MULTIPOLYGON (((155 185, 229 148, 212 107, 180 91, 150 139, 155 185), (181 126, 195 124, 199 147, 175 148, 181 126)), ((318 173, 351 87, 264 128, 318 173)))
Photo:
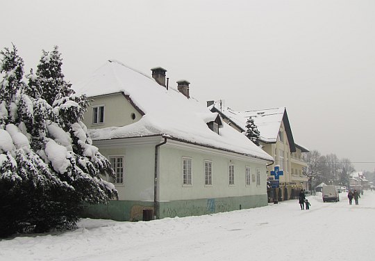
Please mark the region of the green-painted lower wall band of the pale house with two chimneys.
MULTIPOLYGON (((238 209, 263 207, 267 204, 267 194, 231 198, 174 200, 158 203, 158 219, 175 216, 200 216, 238 209)), ((86 206, 82 217, 113 219, 116 221, 142 221, 143 209, 153 209, 153 202, 112 200, 108 205, 86 206)))

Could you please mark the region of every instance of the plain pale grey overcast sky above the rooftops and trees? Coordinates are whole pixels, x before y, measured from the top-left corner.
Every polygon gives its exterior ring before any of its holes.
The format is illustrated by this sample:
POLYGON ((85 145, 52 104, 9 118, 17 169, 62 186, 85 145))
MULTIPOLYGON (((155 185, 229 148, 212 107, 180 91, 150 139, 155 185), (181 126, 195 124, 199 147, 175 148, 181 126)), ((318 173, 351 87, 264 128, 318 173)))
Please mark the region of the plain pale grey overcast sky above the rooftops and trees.
POLYGON ((115 58, 205 103, 285 106, 294 141, 375 168, 375 1, 3 0, 0 47, 26 71, 58 45, 74 83, 115 58))

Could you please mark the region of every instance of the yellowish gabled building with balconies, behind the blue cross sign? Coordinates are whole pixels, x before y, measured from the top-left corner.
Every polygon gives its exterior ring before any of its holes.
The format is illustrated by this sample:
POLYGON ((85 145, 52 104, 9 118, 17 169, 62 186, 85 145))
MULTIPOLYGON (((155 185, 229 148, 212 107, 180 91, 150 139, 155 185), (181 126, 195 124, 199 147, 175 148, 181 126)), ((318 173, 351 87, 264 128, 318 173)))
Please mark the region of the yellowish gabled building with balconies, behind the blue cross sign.
POLYGON ((277 191, 279 200, 294 198, 296 191, 308 189, 308 177, 302 173, 303 168, 307 166, 302 159, 302 153, 308 152, 308 149, 294 143, 285 107, 257 111, 234 111, 222 106, 220 101, 208 102, 207 105, 211 111, 219 113, 223 120, 238 132, 246 132, 247 119, 253 118, 260 132, 260 146, 275 160, 274 164, 267 168, 268 179, 274 179, 271 171, 275 166, 279 166, 283 171, 283 175, 280 176, 282 189, 277 191))

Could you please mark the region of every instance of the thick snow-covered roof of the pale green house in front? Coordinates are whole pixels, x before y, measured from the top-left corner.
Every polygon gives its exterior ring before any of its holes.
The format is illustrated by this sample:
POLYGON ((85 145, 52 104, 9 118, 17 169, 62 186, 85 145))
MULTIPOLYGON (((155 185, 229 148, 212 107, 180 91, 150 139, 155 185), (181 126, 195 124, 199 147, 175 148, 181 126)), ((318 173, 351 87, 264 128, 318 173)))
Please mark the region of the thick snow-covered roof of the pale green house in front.
POLYGON ((72 87, 88 97, 124 93, 144 116, 131 125, 91 129, 93 140, 119 139, 137 136, 164 135, 210 148, 228 150, 267 161, 273 158, 258 148, 244 134, 224 124, 219 135, 207 126, 215 120, 211 113, 194 99, 188 99, 175 88, 160 86, 152 77, 124 63, 108 61, 91 77, 72 87))

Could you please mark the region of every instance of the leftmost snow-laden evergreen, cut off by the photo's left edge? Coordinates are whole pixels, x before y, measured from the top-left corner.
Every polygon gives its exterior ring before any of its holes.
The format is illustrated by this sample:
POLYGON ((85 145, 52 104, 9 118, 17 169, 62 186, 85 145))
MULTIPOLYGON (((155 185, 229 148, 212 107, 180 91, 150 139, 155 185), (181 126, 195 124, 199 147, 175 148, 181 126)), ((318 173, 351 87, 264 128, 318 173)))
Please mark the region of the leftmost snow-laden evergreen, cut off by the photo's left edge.
MULTIPOLYGON (((0 236, 6 236, 35 226, 32 220, 40 215, 38 205, 45 200, 45 191, 52 187, 72 188, 58 180, 48 165, 31 150, 29 135, 19 118, 19 105, 23 104, 21 97, 25 87, 22 82, 24 63, 14 45, 12 50, 4 49, 1 55, 0 236)), ((24 106, 24 115, 31 117, 30 100, 24 104, 29 105, 24 106)))

